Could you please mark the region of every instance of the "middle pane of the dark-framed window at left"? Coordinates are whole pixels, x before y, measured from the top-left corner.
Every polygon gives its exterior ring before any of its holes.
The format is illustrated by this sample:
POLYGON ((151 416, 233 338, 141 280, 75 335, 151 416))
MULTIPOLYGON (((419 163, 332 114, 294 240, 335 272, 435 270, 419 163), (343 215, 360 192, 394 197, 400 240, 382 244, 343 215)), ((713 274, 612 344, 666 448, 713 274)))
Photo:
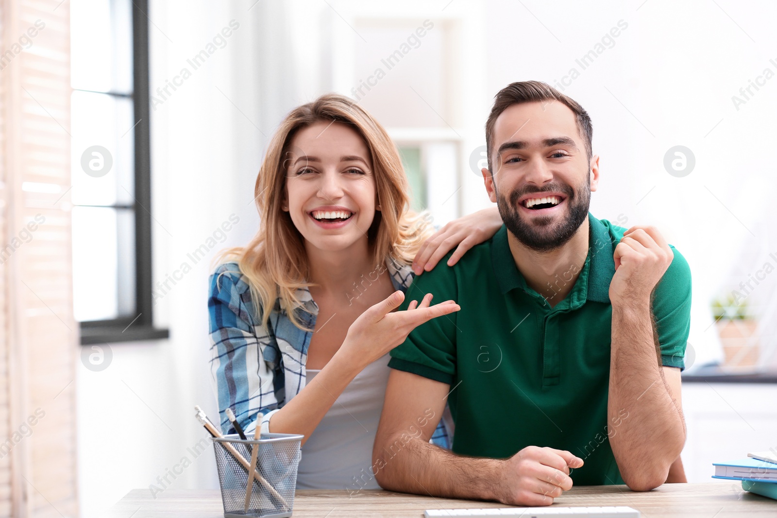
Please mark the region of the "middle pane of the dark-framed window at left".
POLYGON ((76 205, 134 203, 133 116, 131 99, 73 92, 71 199, 76 205), (102 172, 109 163, 110 170, 102 172))

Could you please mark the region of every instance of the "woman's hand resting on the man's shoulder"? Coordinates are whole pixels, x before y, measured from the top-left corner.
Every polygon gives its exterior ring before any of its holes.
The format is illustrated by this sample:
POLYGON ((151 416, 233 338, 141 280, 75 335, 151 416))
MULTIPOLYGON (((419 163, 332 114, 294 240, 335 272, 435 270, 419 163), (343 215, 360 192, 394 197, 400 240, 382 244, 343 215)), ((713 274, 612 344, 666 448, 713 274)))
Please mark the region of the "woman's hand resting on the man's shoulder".
POLYGON ((501 226, 502 217, 497 207, 478 210, 451 221, 421 245, 416 258, 413 259, 413 272, 420 275, 424 271, 430 271, 454 248, 456 251, 448 259, 448 266, 455 265, 467 250, 490 239, 501 226))

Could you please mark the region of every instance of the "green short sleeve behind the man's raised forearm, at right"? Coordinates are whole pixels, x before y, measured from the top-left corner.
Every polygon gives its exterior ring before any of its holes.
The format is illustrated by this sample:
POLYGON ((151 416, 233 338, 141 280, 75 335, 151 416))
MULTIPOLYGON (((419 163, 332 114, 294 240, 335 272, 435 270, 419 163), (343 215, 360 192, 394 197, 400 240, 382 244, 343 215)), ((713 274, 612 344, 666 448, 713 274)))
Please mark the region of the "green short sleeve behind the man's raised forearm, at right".
POLYGON ((674 247, 674 259, 653 293, 661 364, 685 369, 685 346, 691 330, 691 268, 674 247))

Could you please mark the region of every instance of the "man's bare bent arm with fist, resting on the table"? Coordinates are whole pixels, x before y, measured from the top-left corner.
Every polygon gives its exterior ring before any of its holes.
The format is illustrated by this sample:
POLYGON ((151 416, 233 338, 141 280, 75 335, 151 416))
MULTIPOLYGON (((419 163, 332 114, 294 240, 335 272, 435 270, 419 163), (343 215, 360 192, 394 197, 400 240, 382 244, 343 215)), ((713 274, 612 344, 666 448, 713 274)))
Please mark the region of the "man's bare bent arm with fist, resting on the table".
MULTIPOLYGON (((549 506, 572 487, 570 468, 583 460, 568 451, 525 447, 507 460, 465 457, 429 439, 440 420, 451 385, 392 370, 375 435, 373 465, 378 484, 390 491, 510 505, 549 506), (432 415, 430 419, 418 419, 432 415), (420 426, 421 433, 416 436, 420 426), (409 436, 409 433, 413 433, 409 436), (404 438, 403 438, 404 437, 404 438)), ((294 402, 294 400, 292 400, 294 402)))

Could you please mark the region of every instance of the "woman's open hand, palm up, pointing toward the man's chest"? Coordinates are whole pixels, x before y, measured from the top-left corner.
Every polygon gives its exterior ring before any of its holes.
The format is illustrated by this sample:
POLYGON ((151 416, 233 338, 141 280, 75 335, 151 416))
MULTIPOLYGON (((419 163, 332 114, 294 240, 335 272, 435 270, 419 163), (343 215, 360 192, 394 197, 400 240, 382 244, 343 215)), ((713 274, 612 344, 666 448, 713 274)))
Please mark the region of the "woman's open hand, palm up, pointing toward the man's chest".
POLYGON ((426 294, 420 305, 412 301, 406 311, 392 313, 404 300, 405 294, 395 291, 359 315, 348 328, 348 334, 336 356, 341 356, 341 360, 361 370, 404 342, 417 325, 461 309, 455 301, 430 306, 432 294, 426 294))

